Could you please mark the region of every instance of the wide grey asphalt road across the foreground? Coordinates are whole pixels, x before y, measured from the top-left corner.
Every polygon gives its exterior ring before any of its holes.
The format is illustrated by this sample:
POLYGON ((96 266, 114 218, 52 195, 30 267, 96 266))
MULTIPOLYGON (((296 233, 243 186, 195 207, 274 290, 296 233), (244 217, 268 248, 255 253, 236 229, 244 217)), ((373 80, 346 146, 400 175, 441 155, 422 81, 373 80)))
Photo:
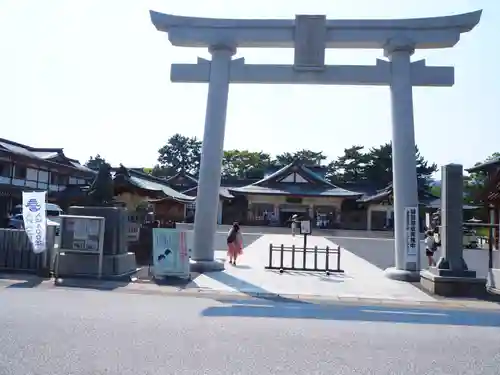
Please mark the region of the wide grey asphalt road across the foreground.
POLYGON ((498 374, 500 313, 0 290, 1 375, 498 374))

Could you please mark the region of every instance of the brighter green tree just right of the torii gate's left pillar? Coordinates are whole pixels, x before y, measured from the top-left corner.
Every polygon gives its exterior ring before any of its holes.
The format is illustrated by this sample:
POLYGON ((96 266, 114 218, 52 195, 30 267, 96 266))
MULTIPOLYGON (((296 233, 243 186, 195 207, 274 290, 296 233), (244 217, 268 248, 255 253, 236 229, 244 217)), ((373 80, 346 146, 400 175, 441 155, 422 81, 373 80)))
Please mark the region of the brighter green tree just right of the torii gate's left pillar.
POLYGON ((224 178, 262 177, 271 165, 271 156, 264 152, 248 150, 224 151, 222 176, 224 178))

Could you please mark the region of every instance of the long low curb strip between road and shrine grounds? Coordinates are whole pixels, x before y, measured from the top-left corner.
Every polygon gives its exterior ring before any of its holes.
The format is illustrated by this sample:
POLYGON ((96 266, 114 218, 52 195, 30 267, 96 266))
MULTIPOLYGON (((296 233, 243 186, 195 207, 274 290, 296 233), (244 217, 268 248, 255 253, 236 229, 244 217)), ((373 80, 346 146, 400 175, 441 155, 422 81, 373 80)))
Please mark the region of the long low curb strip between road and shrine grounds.
POLYGON ((390 298, 369 298, 356 296, 322 296, 322 295, 299 295, 299 294, 277 294, 277 293, 262 293, 262 292, 244 292, 244 291, 219 291, 214 289, 204 288, 184 288, 173 285, 158 285, 154 282, 130 282, 123 283, 117 281, 97 281, 89 282, 88 279, 40 279, 36 277, 25 279, 0 279, 0 286, 8 284, 6 288, 16 288, 15 285, 20 284, 20 289, 80 289, 80 290, 100 290, 109 292, 120 292, 129 294, 144 294, 157 296, 177 296, 177 297, 199 297, 219 299, 221 302, 234 299, 251 300, 251 299, 266 299, 274 302, 282 303, 302 303, 315 305, 376 305, 386 307, 405 307, 416 309, 453 309, 453 310, 477 310, 500 313, 500 305, 490 301, 480 300, 446 300, 439 299, 436 301, 419 301, 419 300, 399 300, 390 298), (22 283, 35 284, 33 287, 23 287, 22 283), (157 288, 147 288, 146 285, 154 285, 157 288))

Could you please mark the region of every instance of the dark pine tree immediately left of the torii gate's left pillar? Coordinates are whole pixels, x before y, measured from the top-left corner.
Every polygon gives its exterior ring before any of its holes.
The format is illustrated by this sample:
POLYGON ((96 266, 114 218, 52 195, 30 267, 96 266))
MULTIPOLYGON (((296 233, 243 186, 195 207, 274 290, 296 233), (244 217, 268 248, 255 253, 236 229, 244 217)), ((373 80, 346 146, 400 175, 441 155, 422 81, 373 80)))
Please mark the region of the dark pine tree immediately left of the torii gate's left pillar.
POLYGON ((201 141, 196 137, 174 134, 167 144, 158 150, 159 167, 169 173, 185 171, 198 175, 201 159, 201 141))

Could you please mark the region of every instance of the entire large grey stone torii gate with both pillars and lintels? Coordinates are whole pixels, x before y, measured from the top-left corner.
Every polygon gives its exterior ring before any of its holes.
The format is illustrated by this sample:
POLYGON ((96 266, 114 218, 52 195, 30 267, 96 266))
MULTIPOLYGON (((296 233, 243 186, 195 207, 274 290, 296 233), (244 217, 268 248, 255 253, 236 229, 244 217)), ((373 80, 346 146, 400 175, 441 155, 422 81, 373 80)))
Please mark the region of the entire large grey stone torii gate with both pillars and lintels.
POLYGON ((172 82, 208 83, 205 130, 196 199, 192 268, 222 269, 214 260, 221 164, 229 83, 389 86, 392 105, 395 267, 388 277, 417 280, 420 272, 413 86, 452 86, 453 67, 411 62, 416 49, 453 47, 471 31, 481 11, 404 20, 327 20, 298 15, 289 20, 208 19, 151 11, 151 21, 172 45, 206 47, 196 64, 172 64, 172 82), (246 64, 232 59, 238 47, 293 48, 293 65, 246 64), (375 65, 325 65, 326 48, 381 49, 375 65))

